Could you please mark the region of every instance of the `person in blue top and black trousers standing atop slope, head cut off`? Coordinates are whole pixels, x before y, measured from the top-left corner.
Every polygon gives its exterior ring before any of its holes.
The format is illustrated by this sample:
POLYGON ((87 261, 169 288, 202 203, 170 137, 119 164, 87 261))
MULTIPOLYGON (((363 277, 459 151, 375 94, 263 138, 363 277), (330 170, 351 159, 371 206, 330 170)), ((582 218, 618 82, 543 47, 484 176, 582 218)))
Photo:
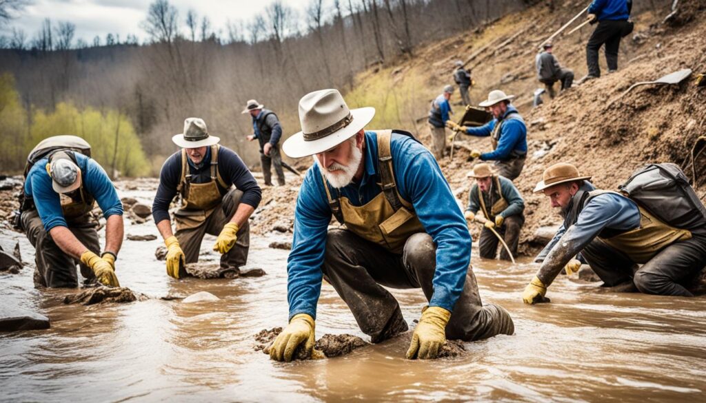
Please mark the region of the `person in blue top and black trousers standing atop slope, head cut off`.
POLYGON ((633 23, 628 21, 632 0, 593 0, 588 8, 588 19, 591 23, 598 21, 598 26, 593 31, 586 44, 586 63, 588 75, 586 78, 601 76, 598 66, 598 50, 606 45, 606 64, 608 72, 618 70, 618 49, 622 37, 633 32, 633 23))

